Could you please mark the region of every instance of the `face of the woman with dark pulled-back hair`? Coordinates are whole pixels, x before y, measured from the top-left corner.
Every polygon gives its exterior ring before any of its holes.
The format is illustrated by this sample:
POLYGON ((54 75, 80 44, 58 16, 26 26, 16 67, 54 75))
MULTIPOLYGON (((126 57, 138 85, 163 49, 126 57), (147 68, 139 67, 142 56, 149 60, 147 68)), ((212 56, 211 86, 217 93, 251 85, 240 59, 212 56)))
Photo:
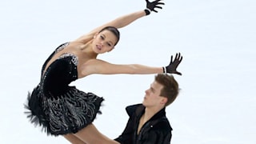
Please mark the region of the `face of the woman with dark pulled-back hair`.
POLYGON ((114 44, 117 42, 116 36, 109 30, 94 35, 93 50, 96 54, 103 54, 114 49, 114 44))

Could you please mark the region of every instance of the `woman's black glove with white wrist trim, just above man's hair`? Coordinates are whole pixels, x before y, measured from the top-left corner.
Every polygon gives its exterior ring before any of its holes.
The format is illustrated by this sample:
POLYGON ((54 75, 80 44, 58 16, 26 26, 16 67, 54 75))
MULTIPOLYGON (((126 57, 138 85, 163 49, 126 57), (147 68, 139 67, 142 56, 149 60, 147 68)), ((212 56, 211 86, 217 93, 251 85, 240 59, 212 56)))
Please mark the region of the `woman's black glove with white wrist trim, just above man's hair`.
POLYGON ((169 66, 162 67, 163 73, 182 75, 182 73, 176 70, 180 62, 182 62, 182 56, 180 53, 175 55, 174 62, 173 62, 173 56, 171 56, 169 66))

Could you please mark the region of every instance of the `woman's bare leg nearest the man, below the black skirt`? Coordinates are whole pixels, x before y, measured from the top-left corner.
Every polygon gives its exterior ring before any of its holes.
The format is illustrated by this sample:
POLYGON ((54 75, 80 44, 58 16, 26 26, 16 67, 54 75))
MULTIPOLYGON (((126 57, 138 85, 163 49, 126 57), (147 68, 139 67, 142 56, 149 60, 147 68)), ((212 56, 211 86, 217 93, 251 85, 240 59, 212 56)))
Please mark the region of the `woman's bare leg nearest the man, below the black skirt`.
POLYGON ((80 138, 83 142, 89 144, 95 143, 104 143, 104 144, 118 144, 118 142, 107 138, 105 135, 101 134, 94 124, 90 124, 79 130, 77 133, 74 134, 76 137, 80 138))

